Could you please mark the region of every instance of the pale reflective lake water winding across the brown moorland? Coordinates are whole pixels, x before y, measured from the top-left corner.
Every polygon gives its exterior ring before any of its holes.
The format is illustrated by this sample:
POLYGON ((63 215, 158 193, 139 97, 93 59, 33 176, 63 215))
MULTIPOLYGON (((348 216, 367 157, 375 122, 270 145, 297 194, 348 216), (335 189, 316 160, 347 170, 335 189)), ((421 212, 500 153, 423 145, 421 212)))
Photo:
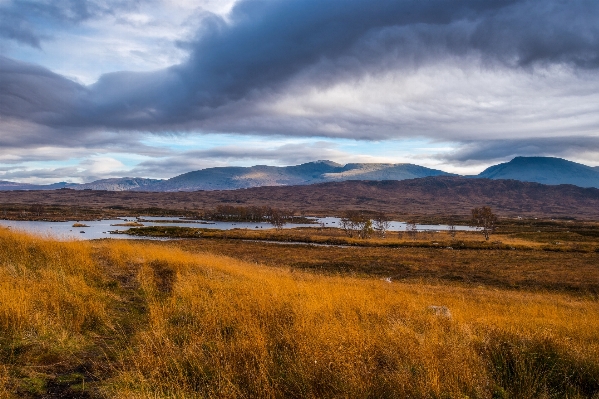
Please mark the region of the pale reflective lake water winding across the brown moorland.
MULTIPOLYGON (((271 229, 270 223, 247 223, 247 222, 205 222, 193 221, 177 217, 140 217, 143 220, 144 226, 179 226, 179 227, 197 227, 218 230, 231 229, 271 229)), ((317 228, 324 224, 326 227, 339 227, 340 219, 335 217, 313 218, 318 224, 286 224, 284 228, 291 229, 295 227, 313 227, 317 228)), ((135 221, 135 217, 111 220, 93 220, 84 221, 89 227, 73 227, 74 221, 70 222, 39 222, 39 221, 15 221, 15 220, 0 220, 0 226, 9 227, 15 230, 22 230, 29 233, 34 233, 41 236, 58 238, 61 240, 77 239, 77 240, 93 240, 98 238, 117 238, 117 239, 145 239, 145 237, 130 236, 127 234, 110 234, 111 231, 125 231, 130 229, 130 226, 114 226, 115 224, 126 223, 127 221, 135 221)), ((417 225, 419 231, 429 230, 447 230, 446 225, 417 225)), ((405 231, 406 223, 391 222, 389 231, 405 231)), ((459 231, 475 230, 469 226, 456 226, 459 231)))

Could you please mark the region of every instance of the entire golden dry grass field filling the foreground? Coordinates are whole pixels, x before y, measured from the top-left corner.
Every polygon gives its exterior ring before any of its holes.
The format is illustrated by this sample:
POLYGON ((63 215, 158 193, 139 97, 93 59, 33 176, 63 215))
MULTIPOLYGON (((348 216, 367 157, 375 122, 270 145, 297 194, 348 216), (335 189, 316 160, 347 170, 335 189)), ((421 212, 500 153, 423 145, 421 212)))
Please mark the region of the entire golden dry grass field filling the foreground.
POLYGON ((0 229, 0 396, 599 397, 592 295, 313 273, 208 241, 0 229))

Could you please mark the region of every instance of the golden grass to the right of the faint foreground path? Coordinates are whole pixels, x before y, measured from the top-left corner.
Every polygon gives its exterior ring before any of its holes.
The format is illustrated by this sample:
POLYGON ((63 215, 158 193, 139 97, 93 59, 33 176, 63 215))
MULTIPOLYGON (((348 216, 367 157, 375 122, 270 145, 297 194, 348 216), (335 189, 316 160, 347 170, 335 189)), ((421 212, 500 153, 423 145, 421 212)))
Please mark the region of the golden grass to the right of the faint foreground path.
MULTIPOLYGON (((118 377, 127 396, 491 397, 511 387, 481 353, 504 341, 524 352, 547 344, 575 368, 599 356, 595 302, 317 277, 214 256, 176 272, 172 295, 150 295, 149 330, 118 377), (452 319, 429 305, 448 306, 452 319)), ((550 389, 535 386, 539 376, 518 378, 519 394, 550 389)))

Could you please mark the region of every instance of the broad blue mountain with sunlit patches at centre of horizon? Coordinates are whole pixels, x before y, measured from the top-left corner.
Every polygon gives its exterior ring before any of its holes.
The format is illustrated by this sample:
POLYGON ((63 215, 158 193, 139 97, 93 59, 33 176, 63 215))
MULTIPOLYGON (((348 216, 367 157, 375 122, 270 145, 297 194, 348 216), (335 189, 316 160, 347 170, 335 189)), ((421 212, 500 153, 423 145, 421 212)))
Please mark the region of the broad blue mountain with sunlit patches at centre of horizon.
POLYGON ((342 180, 405 180, 449 175, 440 170, 411 164, 347 164, 331 161, 308 162, 297 166, 208 168, 185 173, 151 187, 135 191, 234 190, 262 186, 298 186, 342 180))

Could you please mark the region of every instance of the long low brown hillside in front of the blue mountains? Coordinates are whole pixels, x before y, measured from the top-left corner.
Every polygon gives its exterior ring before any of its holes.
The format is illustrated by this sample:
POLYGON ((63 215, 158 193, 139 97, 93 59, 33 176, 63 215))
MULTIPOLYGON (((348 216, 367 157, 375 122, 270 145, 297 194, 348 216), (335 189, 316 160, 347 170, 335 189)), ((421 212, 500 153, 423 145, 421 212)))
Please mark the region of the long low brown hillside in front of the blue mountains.
POLYGON ((0 204, 172 210, 203 210, 232 204, 268 205, 312 214, 364 209, 397 215, 438 216, 468 216, 473 207, 489 205, 501 216, 599 219, 599 189, 454 176, 172 193, 2 191, 0 204))

